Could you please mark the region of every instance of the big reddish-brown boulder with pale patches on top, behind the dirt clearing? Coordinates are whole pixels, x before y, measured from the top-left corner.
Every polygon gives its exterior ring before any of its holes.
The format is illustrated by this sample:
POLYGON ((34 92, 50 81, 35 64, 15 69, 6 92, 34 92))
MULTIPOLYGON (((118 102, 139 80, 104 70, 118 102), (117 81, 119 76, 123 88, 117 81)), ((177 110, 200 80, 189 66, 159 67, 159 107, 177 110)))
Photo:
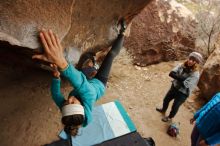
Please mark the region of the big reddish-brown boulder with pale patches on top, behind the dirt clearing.
POLYGON ((174 1, 152 1, 133 21, 126 47, 140 66, 185 58, 195 49, 192 13, 174 1), (186 33, 187 32, 187 33, 186 33))

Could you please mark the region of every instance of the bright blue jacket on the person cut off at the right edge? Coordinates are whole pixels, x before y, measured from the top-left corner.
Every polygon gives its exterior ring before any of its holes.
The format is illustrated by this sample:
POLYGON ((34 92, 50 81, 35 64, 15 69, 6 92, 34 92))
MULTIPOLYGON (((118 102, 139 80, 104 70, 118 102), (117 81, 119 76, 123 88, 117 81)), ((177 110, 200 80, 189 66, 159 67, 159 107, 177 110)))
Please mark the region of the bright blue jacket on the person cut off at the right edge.
POLYGON ((220 93, 198 110, 196 127, 209 145, 220 144, 220 93))

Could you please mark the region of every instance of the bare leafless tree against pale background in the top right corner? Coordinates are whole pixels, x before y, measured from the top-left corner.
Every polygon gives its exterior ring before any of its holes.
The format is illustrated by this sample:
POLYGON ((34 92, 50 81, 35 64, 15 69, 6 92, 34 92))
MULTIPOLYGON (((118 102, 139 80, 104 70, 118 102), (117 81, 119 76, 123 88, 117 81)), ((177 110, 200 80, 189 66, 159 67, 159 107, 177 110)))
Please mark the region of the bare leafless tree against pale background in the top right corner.
POLYGON ((199 8, 196 14, 198 21, 197 42, 207 50, 209 56, 214 48, 215 42, 220 34, 220 2, 218 0, 199 0, 199 8))

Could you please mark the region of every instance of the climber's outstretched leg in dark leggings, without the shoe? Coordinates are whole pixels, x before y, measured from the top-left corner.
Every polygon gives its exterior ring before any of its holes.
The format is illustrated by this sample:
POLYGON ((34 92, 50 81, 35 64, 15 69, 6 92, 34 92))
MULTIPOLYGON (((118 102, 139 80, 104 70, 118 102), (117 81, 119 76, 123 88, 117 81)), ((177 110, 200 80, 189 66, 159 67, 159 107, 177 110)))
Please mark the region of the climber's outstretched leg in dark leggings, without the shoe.
POLYGON ((119 34, 117 39, 112 45, 111 50, 106 55, 105 59, 102 62, 95 78, 100 80, 104 85, 106 85, 108 81, 109 72, 112 67, 112 62, 114 58, 119 54, 124 42, 124 35, 119 34))

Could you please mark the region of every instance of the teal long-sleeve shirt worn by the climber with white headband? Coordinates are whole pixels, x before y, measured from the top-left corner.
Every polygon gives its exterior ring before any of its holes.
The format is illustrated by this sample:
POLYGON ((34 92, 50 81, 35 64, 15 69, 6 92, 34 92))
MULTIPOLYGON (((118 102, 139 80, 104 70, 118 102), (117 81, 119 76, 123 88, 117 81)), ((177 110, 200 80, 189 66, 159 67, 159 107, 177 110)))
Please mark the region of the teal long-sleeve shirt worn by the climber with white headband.
MULTIPOLYGON (((92 109, 94 103, 104 95, 105 86, 104 84, 93 78, 87 80, 86 76, 75 69, 71 64, 61 72, 61 75, 64 76, 74 88, 69 96, 75 96, 81 99, 82 105, 85 111, 85 119, 83 122, 83 127, 87 126, 92 121, 92 109)), ((61 80, 53 78, 51 85, 51 94, 56 105, 61 109, 65 98, 60 90, 61 80)))

